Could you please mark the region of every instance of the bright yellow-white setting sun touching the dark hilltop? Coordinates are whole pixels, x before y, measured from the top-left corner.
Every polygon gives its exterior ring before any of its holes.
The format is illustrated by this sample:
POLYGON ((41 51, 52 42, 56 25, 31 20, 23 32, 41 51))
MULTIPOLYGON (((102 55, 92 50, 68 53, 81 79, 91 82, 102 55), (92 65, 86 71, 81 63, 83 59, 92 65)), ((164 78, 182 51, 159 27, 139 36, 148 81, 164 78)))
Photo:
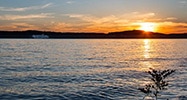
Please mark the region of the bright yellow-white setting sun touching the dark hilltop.
POLYGON ((156 31, 156 23, 151 23, 151 22, 140 23, 139 29, 146 31, 146 32, 155 32, 156 31))

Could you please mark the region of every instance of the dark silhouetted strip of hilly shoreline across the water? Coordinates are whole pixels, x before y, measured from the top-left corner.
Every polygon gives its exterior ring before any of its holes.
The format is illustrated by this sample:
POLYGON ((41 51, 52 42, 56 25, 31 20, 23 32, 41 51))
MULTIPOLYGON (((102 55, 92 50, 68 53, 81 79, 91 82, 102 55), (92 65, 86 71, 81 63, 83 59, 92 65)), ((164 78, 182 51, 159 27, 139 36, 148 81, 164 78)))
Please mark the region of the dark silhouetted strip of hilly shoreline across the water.
POLYGON ((50 31, 0 31, 0 39, 186 39, 187 33, 163 34, 130 30, 109 33, 73 33, 50 31))

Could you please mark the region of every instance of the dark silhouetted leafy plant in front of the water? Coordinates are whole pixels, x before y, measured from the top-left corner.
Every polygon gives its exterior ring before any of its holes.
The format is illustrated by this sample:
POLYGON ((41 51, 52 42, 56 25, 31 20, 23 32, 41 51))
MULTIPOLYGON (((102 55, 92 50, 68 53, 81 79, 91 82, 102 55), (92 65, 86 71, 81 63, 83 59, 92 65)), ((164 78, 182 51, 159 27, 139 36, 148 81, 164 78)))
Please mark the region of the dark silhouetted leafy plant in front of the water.
POLYGON ((138 90, 145 93, 146 96, 153 94, 155 96, 155 99, 157 100, 160 91, 167 89, 168 81, 166 81, 165 79, 174 72, 175 70, 170 69, 163 71, 151 69, 151 71, 148 71, 147 73, 151 76, 150 79, 152 83, 146 84, 144 88, 139 88, 138 90))

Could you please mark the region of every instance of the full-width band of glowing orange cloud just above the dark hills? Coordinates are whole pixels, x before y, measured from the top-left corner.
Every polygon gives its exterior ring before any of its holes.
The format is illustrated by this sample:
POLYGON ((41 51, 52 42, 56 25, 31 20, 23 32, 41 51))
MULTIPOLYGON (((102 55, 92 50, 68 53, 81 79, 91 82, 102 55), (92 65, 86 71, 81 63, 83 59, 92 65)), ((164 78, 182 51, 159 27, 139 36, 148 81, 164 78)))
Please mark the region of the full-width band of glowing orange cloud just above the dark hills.
POLYGON ((155 23, 157 32, 187 32, 187 23, 177 22, 177 18, 160 18, 155 13, 131 12, 123 15, 96 17, 84 14, 64 14, 62 19, 55 19, 51 13, 30 15, 1 15, 0 20, 19 21, 0 25, 0 30, 46 30, 57 32, 111 32, 140 29, 138 23, 155 23), (39 19, 43 22, 39 22, 39 19), (46 20, 45 18, 53 18, 46 20), (63 20, 66 18, 66 20, 63 20), (29 21, 30 19, 32 20, 29 21), (45 22, 44 22, 45 21, 45 22), (36 23, 36 24, 33 24, 36 23))

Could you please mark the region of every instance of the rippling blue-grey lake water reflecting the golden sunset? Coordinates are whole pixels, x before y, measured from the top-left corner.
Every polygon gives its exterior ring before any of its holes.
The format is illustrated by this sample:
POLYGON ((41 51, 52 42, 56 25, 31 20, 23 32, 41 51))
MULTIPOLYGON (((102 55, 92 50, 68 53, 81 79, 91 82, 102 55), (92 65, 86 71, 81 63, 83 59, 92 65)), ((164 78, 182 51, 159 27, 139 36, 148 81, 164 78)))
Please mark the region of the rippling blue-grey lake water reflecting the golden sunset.
POLYGON ((159 98, 186 100, 187 39, 1 39, 0 98, 141 100, 150 68, 176 70, 159 98))

